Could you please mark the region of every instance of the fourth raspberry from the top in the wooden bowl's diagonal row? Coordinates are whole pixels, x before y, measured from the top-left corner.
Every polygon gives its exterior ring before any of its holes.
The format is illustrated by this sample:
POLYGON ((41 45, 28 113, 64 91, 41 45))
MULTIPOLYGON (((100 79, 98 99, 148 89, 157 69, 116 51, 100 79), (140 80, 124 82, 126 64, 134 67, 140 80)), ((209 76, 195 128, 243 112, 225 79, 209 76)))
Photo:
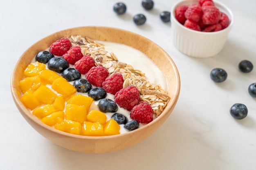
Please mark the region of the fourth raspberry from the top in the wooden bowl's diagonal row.
POLYGON ((107 77, 108 70, 102 65, 98 65, 97 67, 93 66, 87 74, 85 74, 85 78, 96 87, 102 87, 102 82, 105 81, 107 77))

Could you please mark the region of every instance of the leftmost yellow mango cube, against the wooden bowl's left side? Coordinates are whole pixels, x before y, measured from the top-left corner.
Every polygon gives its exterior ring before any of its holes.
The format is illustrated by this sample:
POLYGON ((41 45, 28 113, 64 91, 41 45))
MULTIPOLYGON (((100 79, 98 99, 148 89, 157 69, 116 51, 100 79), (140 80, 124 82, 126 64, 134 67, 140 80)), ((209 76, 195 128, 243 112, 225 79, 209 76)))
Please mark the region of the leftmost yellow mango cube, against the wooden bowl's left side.
POLYGON ((39 76, 26 77, 19 82, 20 90, 23 94, 28 90, 35 91, 40 85, 41 81, 39 76))

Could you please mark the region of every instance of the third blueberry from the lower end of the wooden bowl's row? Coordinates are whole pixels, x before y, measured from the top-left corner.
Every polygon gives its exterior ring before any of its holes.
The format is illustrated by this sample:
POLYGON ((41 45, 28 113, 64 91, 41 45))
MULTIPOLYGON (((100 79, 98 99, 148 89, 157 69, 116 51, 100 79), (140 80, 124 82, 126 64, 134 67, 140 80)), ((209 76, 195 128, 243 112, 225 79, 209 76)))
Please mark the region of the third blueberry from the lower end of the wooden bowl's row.
POLYGON ((117 104, 108 98, 103 98, 101 100, 99 100, 99 104, 98 104, 99 110, 106 113, 106 112, 117 112, 118 107, 117 104))

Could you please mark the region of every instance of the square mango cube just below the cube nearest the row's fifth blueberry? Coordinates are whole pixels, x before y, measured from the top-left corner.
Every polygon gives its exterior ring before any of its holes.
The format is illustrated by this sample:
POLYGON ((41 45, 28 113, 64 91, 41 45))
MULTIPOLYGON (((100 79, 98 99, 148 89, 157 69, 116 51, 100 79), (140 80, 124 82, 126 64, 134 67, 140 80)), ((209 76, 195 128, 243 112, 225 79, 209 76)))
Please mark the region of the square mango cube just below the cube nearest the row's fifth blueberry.
POLYGON ((86 108, 75 104, 67 104, 65 110, 65 118, 83 123, 86 120, 86 108))

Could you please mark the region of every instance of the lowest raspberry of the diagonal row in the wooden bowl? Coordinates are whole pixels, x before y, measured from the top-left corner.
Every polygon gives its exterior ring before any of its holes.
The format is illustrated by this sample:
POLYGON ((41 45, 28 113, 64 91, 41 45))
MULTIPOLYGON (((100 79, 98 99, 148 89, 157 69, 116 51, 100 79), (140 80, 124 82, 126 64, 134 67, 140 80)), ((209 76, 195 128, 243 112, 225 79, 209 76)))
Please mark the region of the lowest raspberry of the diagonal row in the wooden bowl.
POLYGON ((147 124, 153 120, 153 110, 148 102, 139 102, 139 105, 132 108, 130 118, 139 123, 147 124))

